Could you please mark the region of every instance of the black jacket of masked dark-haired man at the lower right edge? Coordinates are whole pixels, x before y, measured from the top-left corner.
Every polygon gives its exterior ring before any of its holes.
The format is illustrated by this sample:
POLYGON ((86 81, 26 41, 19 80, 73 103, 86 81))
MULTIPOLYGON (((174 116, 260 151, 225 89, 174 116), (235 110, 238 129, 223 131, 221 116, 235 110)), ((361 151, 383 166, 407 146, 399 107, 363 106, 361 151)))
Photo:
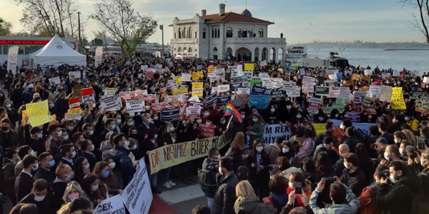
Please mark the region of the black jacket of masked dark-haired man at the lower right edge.
POLYGON ((380 209, 389 211, 389 214, 409 214, 412 198, 419 194, 420 190, 420 179, 417 176, 401 178, 390 189, 388 184, 381 184, 376 203, 380 209))

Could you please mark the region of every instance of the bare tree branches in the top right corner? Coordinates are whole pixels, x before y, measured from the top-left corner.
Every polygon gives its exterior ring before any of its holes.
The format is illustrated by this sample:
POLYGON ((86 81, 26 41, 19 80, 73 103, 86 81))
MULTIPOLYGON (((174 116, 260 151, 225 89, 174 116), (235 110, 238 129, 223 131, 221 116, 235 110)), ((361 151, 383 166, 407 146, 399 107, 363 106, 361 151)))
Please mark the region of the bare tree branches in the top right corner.
POLYGON ((414 28, 422 32, 426 42, 429 44, 429 0, 402 0, 401 2, 418 10, 417 15, 415 13, 410 14, 414 18, 411 24, 414 28))

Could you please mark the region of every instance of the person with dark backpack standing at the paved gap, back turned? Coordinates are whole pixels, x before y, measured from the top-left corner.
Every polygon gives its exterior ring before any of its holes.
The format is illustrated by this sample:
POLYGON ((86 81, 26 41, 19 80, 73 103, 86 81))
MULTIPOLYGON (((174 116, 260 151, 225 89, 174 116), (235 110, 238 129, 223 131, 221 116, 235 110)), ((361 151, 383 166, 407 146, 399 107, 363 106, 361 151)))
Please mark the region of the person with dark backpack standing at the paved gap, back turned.
POLYGON ((206 159, 204 159, 202 169, 198 173, 201 189, 204 192, 204 195, 207 197, 207 204, 212 213, 217 188, 216 174, 219 168, 219 159, 219 149, 217 149, 217 147, 210 148, 209 155, 206 159))

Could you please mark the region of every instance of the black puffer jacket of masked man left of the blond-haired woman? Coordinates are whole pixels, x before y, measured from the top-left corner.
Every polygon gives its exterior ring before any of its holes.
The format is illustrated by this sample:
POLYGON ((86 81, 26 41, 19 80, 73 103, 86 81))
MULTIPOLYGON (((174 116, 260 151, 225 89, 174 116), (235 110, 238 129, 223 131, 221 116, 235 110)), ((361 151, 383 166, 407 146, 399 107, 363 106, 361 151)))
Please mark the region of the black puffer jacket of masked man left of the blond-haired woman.
POLYGON ((218 180, 219 187, 216 190, 213 214, 234 214, 235 186, 238 178, 232 172, 228 177, 218 180))

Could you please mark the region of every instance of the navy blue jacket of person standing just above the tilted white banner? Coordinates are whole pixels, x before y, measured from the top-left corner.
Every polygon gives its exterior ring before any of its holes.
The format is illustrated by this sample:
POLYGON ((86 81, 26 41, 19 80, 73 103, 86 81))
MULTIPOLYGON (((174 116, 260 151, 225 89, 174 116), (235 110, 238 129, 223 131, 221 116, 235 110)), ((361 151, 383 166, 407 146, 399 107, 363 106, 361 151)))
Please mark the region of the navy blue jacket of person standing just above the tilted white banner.
POLYGON ((110 150, 113 160, 115 160, 116 165, 120 167, 120 171, 122 172, 124 187, 128 185, 131 179, 133 179, 134 173, 136 173, 136 167, 134 167, 133 161, 128 157, 129 153, 129 150, 117 145, 110 150))

